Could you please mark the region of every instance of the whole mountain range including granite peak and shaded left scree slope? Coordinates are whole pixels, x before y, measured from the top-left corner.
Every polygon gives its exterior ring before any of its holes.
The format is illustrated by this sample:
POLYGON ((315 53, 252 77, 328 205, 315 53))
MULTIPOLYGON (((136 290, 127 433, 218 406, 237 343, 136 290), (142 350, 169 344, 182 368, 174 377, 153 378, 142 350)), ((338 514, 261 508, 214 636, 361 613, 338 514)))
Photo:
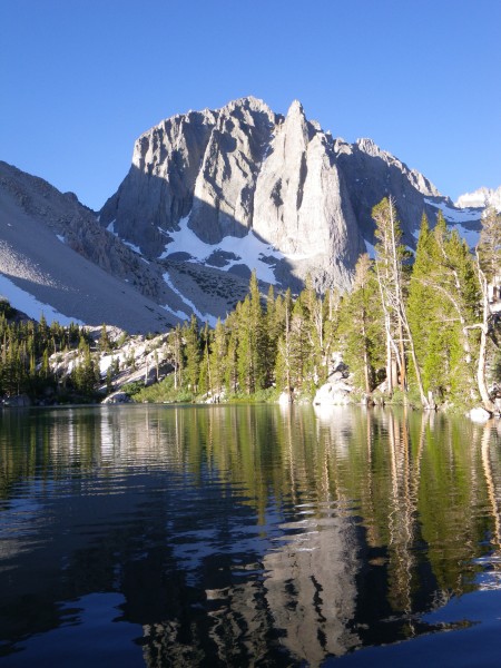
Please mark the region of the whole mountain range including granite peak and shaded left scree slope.
POLYGON ((387 195, 410 247, 423 212, 433 223, 439 209, 474 243, 479 199, 454 206, 371 139, 334 139, 298 101, 285 117, 252 97, 188 111, 137 139, 99 215, 0 163, 0 295, 17 294, 23 311, 30 295, 30 315, 45 304, 46 316, 51 306, 130 332, 191 313, 215 324, 253 269, 264 292, 297 292, 306 275, 320 291, 348 288, 373 250, 372 207, 387 195))

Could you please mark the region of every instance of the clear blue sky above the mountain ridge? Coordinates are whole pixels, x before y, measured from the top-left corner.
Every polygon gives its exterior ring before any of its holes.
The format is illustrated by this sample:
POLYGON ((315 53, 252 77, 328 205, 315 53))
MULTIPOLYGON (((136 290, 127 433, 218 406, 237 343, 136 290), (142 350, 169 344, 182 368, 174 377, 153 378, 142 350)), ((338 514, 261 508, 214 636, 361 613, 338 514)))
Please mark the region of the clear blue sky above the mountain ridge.
POLYGON ((455 199, 501 185, 501 0, 0 0, 0 159, 98 209, 135 139, 299 99, 455 199))

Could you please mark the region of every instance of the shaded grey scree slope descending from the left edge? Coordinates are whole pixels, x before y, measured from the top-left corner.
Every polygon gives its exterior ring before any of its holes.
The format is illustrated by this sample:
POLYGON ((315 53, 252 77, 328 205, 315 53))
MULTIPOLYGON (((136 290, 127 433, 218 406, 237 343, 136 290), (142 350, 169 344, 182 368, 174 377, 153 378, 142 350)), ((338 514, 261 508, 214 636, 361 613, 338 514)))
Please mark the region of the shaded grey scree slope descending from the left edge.
POLYGON ((14 307, 30 306, 35 318, 43 312, 48 320, 107 322, 129 332, 179 322, 155 294, 147 296, 156 281, 143 273, 144 263, 75 196, 0 163, 0 294, 14 307), (139 281, 144 291, 134 286, 139 281))

